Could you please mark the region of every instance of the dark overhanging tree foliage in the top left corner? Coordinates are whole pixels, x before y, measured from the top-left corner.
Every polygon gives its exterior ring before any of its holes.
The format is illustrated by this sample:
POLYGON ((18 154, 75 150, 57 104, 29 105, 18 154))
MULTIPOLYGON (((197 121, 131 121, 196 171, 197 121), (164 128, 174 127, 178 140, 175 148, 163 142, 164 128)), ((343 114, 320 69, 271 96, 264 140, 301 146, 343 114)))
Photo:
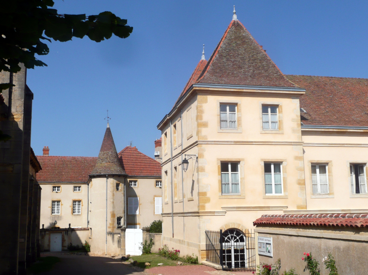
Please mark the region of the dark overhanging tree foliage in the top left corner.
MULTIPOLYGON (((26 68, 47 66, 35 57, 49 52, 46 41, 65 42, 88 36, 101 42, 112 34, 127 38, 133 27, 111 12, 86 16, 58 14, 51 9, 53 0, 0 0, 0 71, 18 72, 19 63, 26 68), (43 42, 42 42, 43 41, 43 42)), ((0 91, 9 83, 0 84, 0 91)))

